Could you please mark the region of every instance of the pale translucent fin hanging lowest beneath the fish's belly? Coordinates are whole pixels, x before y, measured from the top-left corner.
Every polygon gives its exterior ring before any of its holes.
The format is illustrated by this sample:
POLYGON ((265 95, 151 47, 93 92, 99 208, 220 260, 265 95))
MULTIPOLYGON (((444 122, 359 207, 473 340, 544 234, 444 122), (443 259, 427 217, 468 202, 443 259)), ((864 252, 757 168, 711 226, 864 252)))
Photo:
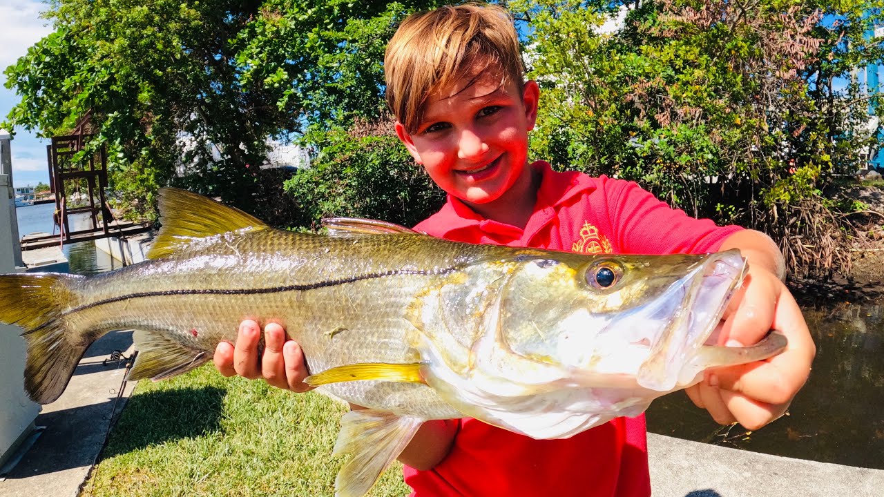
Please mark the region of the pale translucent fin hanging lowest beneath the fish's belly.
POLYGON ((353 410, 340 422, 334 455, 352 457, 335 478, 336 497, 362 497, 423 423, 417 417, 400 417, 378 409, 353 410))

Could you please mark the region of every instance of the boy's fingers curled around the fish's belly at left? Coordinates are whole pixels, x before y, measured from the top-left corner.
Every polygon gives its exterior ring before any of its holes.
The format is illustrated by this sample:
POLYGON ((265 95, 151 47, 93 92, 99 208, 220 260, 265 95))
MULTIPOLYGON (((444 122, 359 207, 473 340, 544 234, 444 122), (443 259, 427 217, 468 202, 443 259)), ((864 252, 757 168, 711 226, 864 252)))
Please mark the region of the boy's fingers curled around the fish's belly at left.
POLYGON ((267 383, 293 392, 307 392, 312 386, 304 383, 309 376, 301 346, 289 340, 286 330, 269 323, 263 330, 263 356, 258 355, 261 326, 247 319, 240 323, 236 346, 222 341, 215 348, 215 368, 224 376, 264 378, 267 383))

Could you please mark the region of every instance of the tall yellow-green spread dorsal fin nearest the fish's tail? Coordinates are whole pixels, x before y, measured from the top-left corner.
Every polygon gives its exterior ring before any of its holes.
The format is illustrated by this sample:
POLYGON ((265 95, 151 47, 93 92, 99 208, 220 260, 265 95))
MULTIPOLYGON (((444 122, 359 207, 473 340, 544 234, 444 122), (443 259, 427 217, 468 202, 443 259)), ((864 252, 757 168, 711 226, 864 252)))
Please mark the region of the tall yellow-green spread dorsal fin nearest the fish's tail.
POLYGON ((150 248, 149 259, 168 256, 207 236, 268 228, 260 219, 242 210, 179 188, 160 188, 159 210, 163 226, 150 248))

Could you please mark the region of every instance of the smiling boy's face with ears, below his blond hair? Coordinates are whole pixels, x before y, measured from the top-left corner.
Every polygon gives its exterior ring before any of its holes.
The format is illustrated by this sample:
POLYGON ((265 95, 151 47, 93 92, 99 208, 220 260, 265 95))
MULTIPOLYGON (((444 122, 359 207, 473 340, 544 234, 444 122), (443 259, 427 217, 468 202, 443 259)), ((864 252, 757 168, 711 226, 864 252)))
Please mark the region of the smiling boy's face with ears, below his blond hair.
POLYGON ((414 134, 396 123, 396 134, 417 164, 423 164, 439 187, 468 204, 498 200, 529 171, 528 132, 537 118, 537 83, 526 82, 520 93, 514 83, 501 86, 494 69, 431 94, 414 134))

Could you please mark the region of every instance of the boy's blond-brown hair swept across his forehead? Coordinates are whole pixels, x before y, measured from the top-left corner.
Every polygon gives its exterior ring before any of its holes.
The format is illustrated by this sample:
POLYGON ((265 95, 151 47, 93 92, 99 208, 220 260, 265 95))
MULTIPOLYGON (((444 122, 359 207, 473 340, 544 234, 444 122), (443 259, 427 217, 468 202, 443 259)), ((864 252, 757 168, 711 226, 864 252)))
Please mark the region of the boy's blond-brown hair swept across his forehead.
POLYGON ((415 133, 433 91, 465 75, 476 76, 476 69, 481 73, 490 65, 503 69, 501 84, 514 82, 522 93, 525 76, 519 38, 506 9, 464 4, 414 13, 402 21, 387 45, 387 105, 406 131, 415 133))

